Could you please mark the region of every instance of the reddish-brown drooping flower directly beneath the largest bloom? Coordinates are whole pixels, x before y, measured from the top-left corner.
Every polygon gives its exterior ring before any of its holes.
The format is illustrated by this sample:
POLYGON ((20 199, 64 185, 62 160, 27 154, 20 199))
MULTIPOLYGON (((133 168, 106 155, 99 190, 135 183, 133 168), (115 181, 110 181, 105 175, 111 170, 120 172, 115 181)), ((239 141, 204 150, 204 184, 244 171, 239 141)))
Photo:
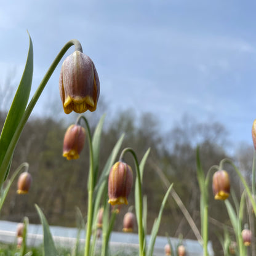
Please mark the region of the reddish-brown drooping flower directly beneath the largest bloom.
POLYGON ((63 156, 64 158, 78 159, 79 154, 84 147, 84 139, 86 138, 86 130, 78 124, 72 124, 66 130, 63 141, 63 156))

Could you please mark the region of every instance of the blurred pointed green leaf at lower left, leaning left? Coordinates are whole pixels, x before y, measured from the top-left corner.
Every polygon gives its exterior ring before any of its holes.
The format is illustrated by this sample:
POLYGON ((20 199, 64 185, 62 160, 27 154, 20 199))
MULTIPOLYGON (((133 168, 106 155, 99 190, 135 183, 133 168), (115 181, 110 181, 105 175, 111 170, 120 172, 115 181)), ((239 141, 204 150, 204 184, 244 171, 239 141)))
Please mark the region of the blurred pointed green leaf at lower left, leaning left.
POLYGON ((42 229, 44 231, 44 255, 45 256, 57 256, 57 250, 54 245, 54 239, 52 239, 52 234, 50 233, 49 224, 46 220, 46 217, 42 213, 42 210, 36 204, 36 210, 41 220, 42 229))

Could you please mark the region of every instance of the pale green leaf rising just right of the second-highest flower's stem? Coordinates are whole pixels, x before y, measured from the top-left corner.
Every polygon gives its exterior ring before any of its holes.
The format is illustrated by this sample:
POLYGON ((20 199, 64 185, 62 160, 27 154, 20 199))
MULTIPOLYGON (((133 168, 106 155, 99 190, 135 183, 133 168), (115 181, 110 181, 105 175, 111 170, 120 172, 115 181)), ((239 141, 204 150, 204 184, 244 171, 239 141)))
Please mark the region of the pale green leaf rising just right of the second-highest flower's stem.
POLYGON ((92 138, 92 150, 94 154, 94 186, 97 181, 98 177, 98 163, 99 163, 99 156, 100 156, 100 138, 102 135, 102 127, 103 127, 103 122, 105 119, 105 114, 100 118, 100 121, 97 124, 97 127, 94 131, 94 137, 92 138))

